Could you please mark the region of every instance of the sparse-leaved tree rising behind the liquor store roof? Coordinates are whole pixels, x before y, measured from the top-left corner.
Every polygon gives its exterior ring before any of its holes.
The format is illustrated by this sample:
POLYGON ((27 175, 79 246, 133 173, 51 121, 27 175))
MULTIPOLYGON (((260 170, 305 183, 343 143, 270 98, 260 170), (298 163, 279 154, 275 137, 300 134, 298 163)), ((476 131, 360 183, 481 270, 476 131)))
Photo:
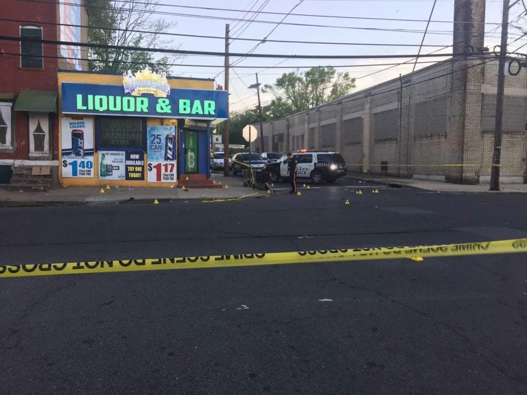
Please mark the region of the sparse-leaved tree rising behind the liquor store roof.
POLYGON ((172 27, 154 14, 158 0, 113 1, 86 0, 89 29, 88 42, 99 45, 89 49, 89 69, 119 73, 128 69, 150 69, 169 71, 169 64, 178 56, 154 58, 148 51, 124 51, 108 49, 108 45, 151 48, 167 45, 161 34, 172 27))

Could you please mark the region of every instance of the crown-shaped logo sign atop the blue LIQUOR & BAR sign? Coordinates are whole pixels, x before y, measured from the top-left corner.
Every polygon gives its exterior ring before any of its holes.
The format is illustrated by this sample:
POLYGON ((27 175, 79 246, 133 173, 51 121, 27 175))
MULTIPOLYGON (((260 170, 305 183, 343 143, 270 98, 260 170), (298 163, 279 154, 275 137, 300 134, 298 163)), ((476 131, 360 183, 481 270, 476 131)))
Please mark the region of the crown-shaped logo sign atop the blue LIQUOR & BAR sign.
POLYGON ((155 97, 170 95, 167 73, 161 70, 159 73, 152 73, 148 67, 134 74, 131 70, 123 73, 123 86, 124 93, 130 93, 132 96, 141 96, 143 93, 150 93, 155 97))

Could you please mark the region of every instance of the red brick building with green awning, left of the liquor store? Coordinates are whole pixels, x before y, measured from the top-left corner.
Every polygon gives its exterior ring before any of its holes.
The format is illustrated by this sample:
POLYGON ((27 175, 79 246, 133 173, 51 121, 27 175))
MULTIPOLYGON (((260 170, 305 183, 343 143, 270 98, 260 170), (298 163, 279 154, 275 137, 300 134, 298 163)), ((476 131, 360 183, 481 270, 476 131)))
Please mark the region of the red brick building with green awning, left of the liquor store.
POLYGON ((34 40, 86 42, 83 0, 5 0, 0 23, 0 182, 56 182, 58 69, 87 69, 85 49, 34 40), (78 26, 72 26, 78 25, 78 26), (45 180, 32 176, 47 173, 45 180), (13 175, 11 174, 13 171, 13 175))

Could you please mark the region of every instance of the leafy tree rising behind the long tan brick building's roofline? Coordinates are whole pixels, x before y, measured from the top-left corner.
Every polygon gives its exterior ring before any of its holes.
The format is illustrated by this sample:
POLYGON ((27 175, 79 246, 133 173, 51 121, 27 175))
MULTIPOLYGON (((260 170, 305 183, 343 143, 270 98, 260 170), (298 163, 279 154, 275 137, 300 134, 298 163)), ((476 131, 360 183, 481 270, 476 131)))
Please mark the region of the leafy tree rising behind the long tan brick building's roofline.
POLYGON ((283 73, 274 84, 264 85, 264 92, 274 95, 265 107, 270 119, 283 118, 320 106, 345 96, 355 88, 349 73, 337 73, 333 67, 313 67, 305 73, 298 70, 283 73))

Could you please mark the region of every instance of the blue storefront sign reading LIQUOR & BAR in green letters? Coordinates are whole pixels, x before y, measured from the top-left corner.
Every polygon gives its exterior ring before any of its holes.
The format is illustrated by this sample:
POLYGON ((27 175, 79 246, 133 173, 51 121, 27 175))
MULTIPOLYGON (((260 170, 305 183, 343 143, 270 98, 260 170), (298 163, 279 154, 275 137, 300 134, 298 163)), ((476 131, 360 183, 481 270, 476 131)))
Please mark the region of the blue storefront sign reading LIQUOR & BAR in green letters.
POLYGON ((123 86, 62 83, 65 114, 227 119, 226 91, 172 88, 166 97, 131 95, 123 86))

